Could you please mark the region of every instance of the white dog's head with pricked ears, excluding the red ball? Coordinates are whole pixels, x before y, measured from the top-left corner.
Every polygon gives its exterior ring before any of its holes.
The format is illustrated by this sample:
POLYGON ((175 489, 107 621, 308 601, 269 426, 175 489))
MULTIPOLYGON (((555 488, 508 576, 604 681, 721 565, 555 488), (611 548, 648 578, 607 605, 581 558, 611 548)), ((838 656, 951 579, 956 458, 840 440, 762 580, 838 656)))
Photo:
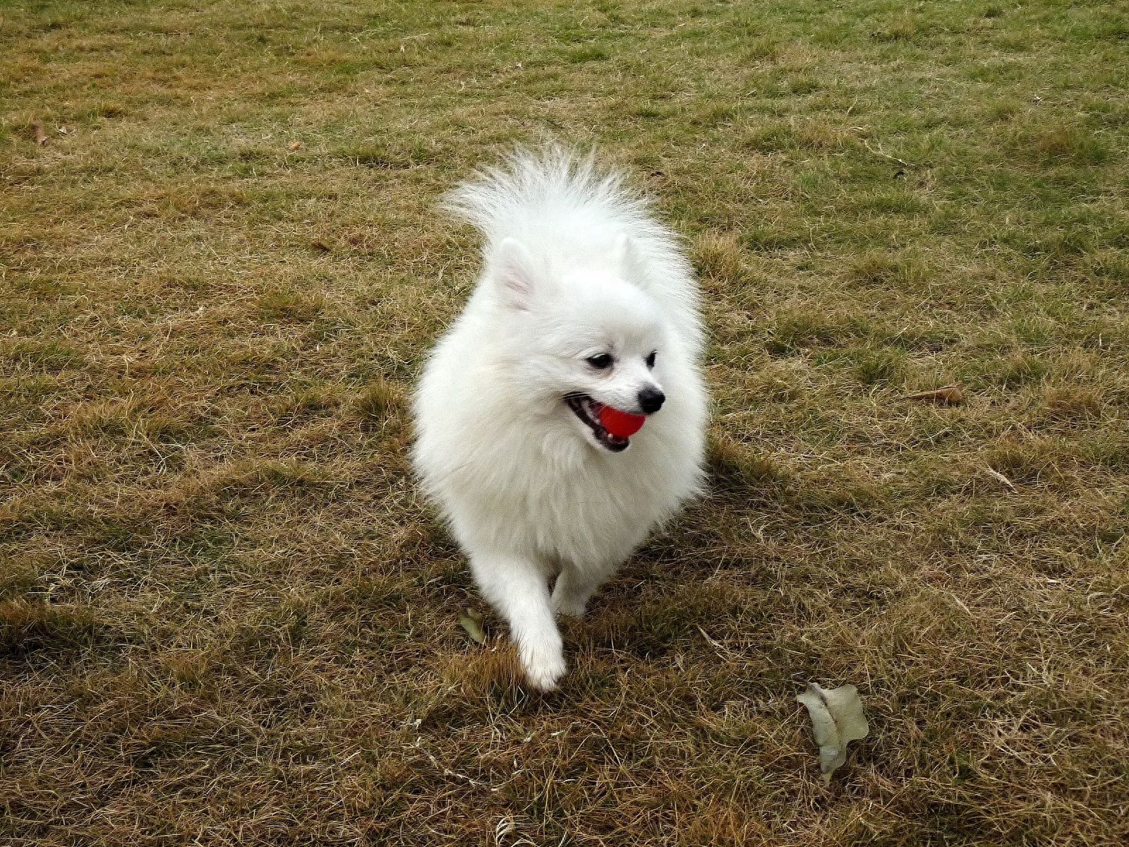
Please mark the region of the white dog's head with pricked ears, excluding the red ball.
POLYGON ((630 438, 605 426, 605 407, 628 416, 662 409, 663 351, 669 339, 663 312, 646 291, 646 269, 632 241, 619 236, 606 255, 583 270, 557 270, 522 242, 506 238, 488 278, 518 375, 514 388, 569 420, 594 447, 627 449, 630 438))

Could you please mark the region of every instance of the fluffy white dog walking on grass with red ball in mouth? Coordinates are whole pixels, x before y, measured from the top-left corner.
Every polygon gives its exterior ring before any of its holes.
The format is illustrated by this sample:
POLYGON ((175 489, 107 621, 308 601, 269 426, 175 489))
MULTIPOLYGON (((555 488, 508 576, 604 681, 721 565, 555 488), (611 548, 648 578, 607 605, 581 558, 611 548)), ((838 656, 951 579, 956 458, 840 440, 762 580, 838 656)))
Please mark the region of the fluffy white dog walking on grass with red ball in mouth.
POLYGON ((414 463, 550 690, 553 613, 583 615, 699 490, 698 291, 674 234, 590 158, 518 151, 447 208, 482 232, 484 267, 420 381, 414 463))

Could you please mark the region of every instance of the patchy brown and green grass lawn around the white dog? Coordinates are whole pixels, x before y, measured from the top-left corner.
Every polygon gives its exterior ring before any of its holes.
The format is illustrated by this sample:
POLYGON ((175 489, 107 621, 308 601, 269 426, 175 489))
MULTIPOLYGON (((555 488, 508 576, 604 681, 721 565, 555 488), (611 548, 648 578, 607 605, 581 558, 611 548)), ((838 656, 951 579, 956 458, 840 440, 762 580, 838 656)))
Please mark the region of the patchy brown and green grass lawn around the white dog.
POLYGON ((1105 2, 0 3, 0 844, 1124 844, 1127 67, 1105 2), (715 408, 542 697, 405 400, 439 194, 550 137, 684 235, 715 408))

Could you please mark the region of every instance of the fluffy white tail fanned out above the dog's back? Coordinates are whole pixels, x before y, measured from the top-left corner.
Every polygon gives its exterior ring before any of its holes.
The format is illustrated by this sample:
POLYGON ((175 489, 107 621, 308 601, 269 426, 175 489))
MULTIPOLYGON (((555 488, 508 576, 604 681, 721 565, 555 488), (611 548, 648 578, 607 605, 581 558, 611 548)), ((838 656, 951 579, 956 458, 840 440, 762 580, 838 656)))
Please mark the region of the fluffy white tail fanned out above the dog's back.
POLYGON ((646 201, 623 184, 616 171, 596 167, 592 154, 558 145, 518 148, 501 165, 479 169, 450 191, 443 208, 474 225, 487 241, 549 225, 564 215, 586 211, 646 220, 646 201))

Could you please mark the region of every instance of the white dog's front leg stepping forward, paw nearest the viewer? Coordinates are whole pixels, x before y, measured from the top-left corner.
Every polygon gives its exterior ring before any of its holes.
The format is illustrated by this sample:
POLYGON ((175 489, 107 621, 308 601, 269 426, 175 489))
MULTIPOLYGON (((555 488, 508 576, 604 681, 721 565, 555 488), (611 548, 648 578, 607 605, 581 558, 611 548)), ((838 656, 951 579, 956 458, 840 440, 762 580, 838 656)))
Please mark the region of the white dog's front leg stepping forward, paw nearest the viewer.
POLYGON ((557 688, 564 654, 544 571, 534 561, 498 553, 472 555, 471 569, 482 594, 509 622, 530 682, 543 691, 557 688))

